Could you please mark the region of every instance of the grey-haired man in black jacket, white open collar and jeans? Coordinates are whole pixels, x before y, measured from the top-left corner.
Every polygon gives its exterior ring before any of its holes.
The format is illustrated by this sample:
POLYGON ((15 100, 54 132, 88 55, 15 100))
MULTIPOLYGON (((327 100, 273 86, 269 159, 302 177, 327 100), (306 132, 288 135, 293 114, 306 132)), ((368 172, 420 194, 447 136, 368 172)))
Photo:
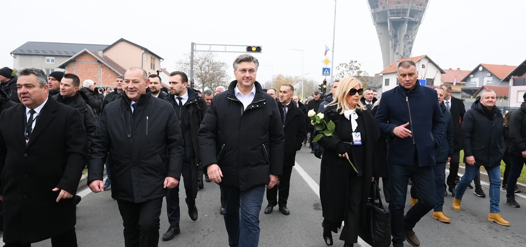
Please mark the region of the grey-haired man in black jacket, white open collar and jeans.
POLYGON ((283 126, 276 100, 256 81, 258 66, 250 54, 236 58, 237 80, 214 97, 199 129, 201 163, 221 188, 230 246, 258 245, 265 184, 272 189, 283 168, 283 126))

